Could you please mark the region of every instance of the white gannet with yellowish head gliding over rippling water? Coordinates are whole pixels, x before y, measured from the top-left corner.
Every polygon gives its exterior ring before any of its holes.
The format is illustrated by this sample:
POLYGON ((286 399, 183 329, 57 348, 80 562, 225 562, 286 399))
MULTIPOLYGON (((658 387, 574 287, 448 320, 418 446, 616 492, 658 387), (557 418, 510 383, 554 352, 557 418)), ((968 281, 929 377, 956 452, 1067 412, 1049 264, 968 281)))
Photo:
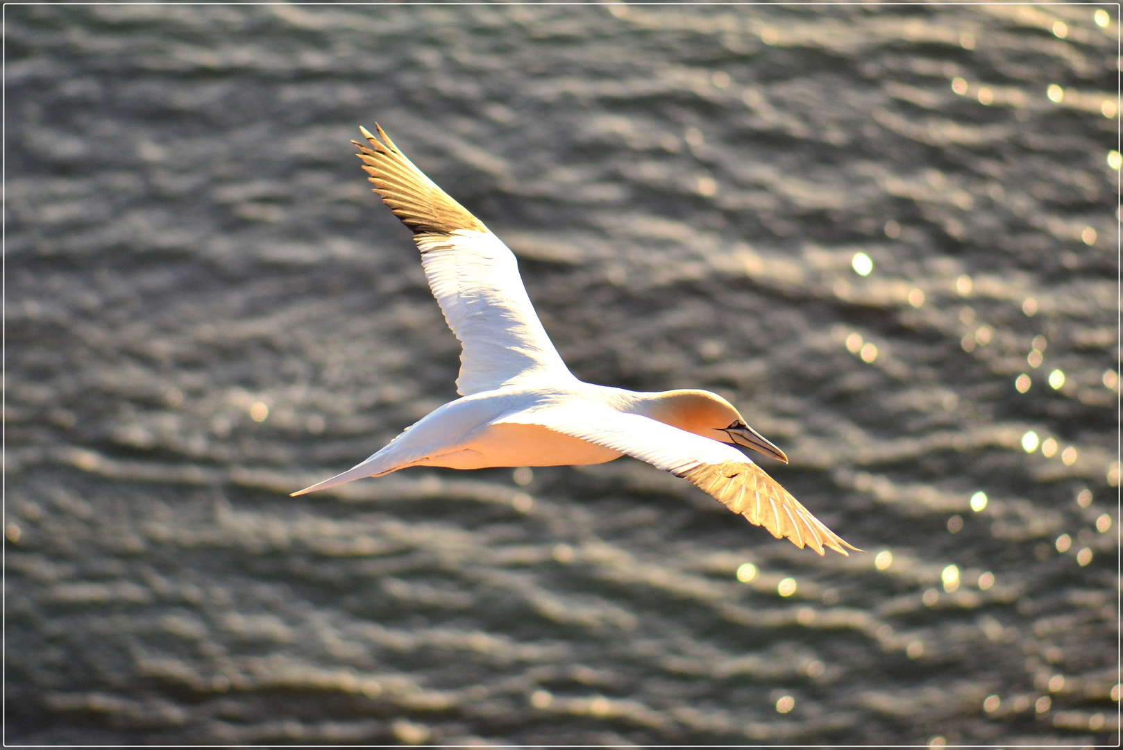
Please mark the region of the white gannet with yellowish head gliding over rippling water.
POLYGON ((787 463, 725 399, 704 390, 636 392, 577 380, 538 320, 514 255, 405 157, 381 127, 353 141, 374 191, 421 250, 445 319, 463 345, 456 390, 358 466, 293 495, 407 467, 548 467, 631 455, 701 487, 750 523, 819 554, 858 550, 734 445, 787 463))

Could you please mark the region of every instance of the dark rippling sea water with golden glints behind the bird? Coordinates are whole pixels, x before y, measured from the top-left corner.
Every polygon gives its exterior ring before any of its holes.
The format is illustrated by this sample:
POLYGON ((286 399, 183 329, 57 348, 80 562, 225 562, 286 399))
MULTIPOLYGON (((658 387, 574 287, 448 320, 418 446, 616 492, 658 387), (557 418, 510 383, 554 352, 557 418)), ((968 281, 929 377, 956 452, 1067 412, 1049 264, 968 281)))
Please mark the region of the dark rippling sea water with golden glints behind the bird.
POLYGON ((7 740, 1116 742, 1105 8, 9 6, 7 740), (287 497, 455 397, 375 120, 868 553, 632 460, 287 497))

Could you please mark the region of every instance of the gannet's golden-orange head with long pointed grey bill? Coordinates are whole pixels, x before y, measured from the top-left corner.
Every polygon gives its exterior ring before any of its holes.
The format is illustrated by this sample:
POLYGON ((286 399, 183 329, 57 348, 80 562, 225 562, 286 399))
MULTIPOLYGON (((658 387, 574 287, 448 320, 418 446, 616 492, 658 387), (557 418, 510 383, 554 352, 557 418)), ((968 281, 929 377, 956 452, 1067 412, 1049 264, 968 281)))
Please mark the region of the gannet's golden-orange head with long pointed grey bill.
POLYGON ((748 448, 787 463, 787 457, 745 423, 733 405, 707 390, 668 390, 648 403, 647 416, 720 443, 748 448))

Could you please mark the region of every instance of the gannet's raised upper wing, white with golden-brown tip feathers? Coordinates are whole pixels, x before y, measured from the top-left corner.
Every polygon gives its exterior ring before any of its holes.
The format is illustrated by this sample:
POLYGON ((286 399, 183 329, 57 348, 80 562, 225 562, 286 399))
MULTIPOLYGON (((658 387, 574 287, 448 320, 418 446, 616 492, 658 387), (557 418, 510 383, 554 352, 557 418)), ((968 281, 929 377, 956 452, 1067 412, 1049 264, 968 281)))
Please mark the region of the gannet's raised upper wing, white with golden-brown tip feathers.
POLYGON ((381 127, 351 141, 374 191, 413 229, 429 288, 460 341, 462 396, 548 374, 573 378, 535 313, 514 254, 399 151, 381 127))

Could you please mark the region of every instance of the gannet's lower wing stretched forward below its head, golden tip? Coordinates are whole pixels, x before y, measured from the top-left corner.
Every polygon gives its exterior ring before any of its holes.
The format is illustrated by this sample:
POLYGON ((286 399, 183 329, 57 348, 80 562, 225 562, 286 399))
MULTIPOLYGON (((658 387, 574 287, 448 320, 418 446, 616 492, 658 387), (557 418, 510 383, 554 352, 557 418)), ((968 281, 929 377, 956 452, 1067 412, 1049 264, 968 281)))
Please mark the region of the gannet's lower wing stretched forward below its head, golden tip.
POLYGON ((801 549, 809 545, 819 554, 825 546, 842 554, 849 554, 843 548, 858 550, 740 451, 709 437, 596 406, 521 412, 501 421, 537 424, 647 461, 693 482, 749 523, 764 526, 776 539, 786 536, 801 549))

